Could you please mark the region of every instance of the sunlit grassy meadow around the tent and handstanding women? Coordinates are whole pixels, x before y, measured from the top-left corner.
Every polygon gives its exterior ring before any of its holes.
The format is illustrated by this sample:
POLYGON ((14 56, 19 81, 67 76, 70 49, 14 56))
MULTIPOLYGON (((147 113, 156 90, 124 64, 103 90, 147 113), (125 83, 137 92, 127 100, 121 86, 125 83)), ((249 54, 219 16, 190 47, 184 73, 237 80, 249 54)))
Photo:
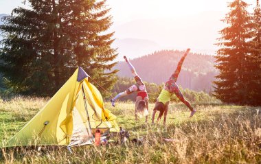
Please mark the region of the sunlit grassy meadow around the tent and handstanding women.
MULTIPOLYGON (((0 99, 0 143, 10 139, 44 106, 47 99, 0 99)), ((150 104, 150 116, 154 104, 150 104)), ((117 122, 141 144, 110 143, 96 148, 65 147, 1 149, 0 163, 261 163, 261 108, 220 104, 196 105, 190 115, 183 104, 172 104, 166 126, 135 121, 134 104, 106 103, 117 122), (174 141, 163 141, 163 138, 174 141)))

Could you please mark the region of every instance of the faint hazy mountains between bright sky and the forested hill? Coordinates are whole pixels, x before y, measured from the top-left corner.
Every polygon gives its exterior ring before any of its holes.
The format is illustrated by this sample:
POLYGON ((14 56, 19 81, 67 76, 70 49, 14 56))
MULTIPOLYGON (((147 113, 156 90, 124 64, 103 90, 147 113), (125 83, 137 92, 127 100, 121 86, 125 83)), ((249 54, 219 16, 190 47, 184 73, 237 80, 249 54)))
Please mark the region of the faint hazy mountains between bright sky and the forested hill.
POLYGON ((152 40, 161 45, 161 49, 190 47, 196 52, 214 54, 218 49, 214 45, 220 37, 218 31, 224 27, 220 19, 220 12, 202 12, 170 18, 126 20, 113 25, 112 31, 115 38, 152 40))

